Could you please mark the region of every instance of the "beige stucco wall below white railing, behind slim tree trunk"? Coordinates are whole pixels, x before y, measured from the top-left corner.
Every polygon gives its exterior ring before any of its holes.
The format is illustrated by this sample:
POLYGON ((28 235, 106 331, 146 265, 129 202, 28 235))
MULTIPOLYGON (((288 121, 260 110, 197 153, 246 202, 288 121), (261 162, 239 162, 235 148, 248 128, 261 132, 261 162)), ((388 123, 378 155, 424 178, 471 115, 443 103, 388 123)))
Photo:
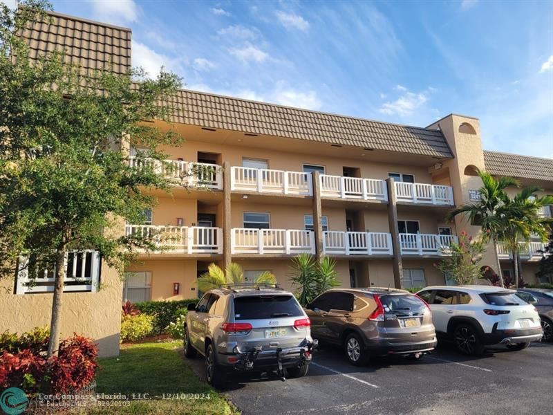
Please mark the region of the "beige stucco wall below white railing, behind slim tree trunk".
MULTIPOLYGON (((50 327, 51 293, 14 294, 14 279, 0 279, 0 332, 23 333, 50 327)), ((118 356, 121 328, 122 279, 103 264, 96 293, 64 293, 61 338, 74 332, 95 340, 100 356, 118 356)))

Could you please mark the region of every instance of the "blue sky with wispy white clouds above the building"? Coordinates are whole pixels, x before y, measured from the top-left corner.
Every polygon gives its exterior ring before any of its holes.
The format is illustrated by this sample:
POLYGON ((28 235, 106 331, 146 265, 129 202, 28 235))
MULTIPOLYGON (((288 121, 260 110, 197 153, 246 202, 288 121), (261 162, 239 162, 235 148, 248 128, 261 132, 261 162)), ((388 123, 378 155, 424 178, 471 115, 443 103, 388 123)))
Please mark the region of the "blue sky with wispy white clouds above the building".
MULTIPOLYGON (((15 3, 15 0, 0 0, 15 3)), ((133 66, 187 89, 425 127, 553 158, 553 1, 54 0, 133 30, 133 66)))

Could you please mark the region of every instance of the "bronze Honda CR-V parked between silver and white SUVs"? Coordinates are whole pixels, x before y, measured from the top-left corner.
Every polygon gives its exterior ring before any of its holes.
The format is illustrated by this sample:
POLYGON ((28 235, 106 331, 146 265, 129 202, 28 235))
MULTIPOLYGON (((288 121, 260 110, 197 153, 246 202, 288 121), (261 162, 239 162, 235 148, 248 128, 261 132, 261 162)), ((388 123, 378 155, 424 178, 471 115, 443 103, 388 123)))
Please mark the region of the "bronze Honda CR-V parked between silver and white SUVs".
POLYGON ((370 356, 420 358, 438 344, 427 303, 393 288, 337 288, 306 306, 311 335, 344 347, 353 365, 370 356))

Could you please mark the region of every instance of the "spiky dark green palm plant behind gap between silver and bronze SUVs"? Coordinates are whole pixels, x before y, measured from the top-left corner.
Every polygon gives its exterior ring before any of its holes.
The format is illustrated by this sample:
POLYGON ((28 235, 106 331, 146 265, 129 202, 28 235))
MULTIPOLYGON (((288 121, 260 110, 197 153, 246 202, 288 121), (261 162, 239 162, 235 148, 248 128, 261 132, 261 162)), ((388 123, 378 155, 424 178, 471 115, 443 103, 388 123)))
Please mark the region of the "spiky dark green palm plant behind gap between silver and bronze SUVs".
POLYGON ((289 279, 292 286, 297 286, 296 296, 303 306, 310 303, 317 295, 330 288, 339 286, 335 259, 324 257, 317 262, 309 254, 300 254, 292 258, 289 279))

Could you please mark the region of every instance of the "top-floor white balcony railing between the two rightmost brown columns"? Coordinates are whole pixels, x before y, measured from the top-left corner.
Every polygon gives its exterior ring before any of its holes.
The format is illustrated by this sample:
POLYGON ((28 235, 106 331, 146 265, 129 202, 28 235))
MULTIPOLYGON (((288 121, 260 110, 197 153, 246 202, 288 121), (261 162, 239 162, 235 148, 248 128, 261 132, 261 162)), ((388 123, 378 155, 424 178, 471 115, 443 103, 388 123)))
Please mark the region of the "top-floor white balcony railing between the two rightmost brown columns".
POLYGON ((340 199, 388 201, 386 182, 374 178, 321 174, 321 196, 340 199))

